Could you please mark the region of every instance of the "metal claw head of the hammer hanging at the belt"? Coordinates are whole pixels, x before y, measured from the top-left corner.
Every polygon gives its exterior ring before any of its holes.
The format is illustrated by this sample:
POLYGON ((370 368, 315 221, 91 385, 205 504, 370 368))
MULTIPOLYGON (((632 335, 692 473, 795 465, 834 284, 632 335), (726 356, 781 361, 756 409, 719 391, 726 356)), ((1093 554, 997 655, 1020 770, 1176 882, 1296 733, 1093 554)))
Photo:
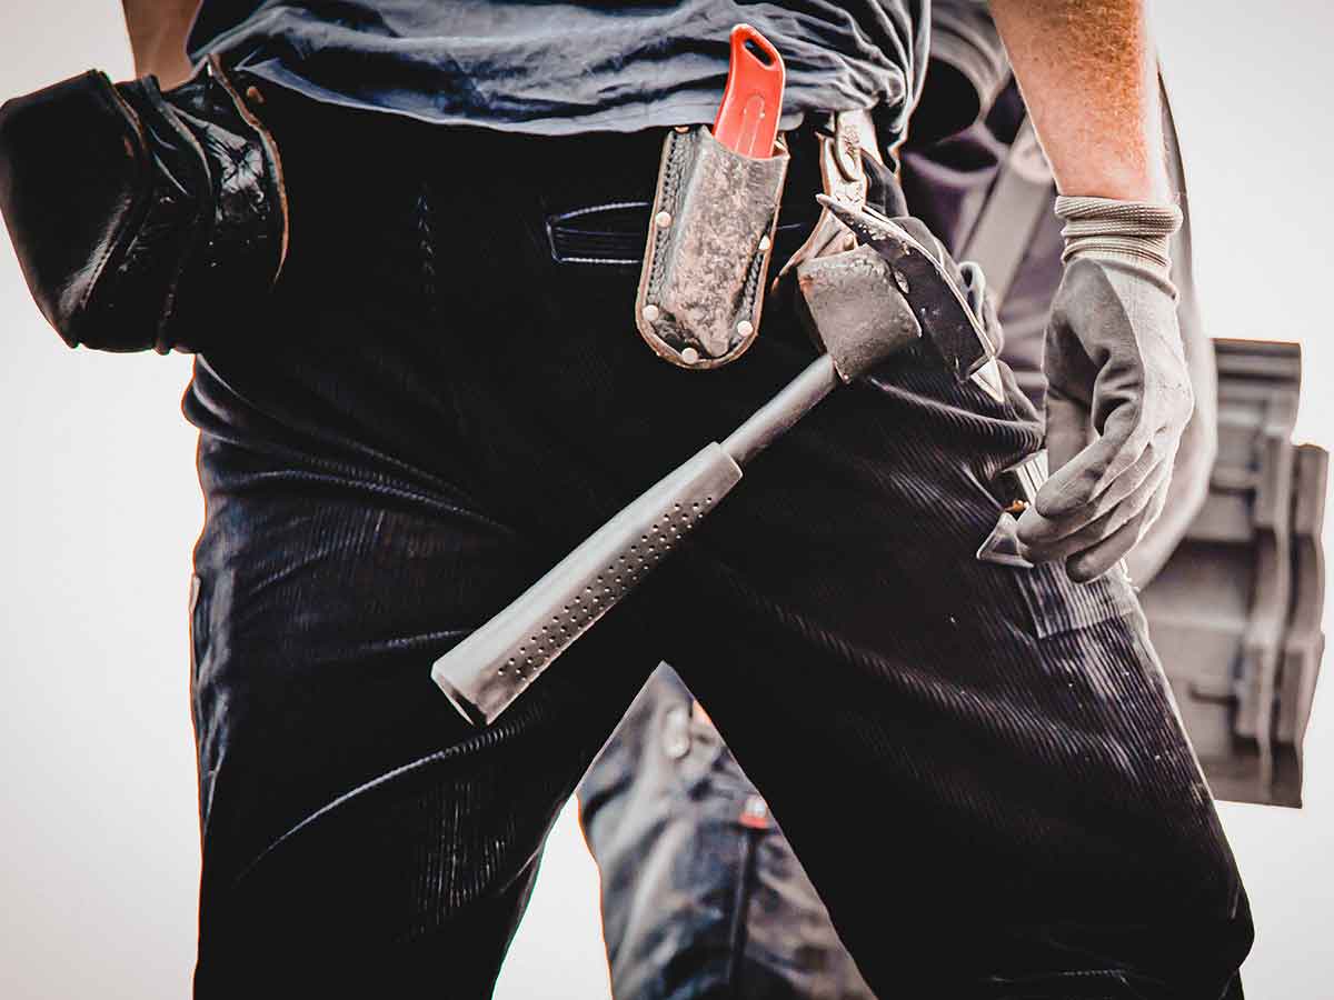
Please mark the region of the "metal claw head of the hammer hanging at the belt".
POLYGON ((796 272, 815 339, 844 381, 923 335, 959 381, 992 359, 991 341, 939 257, 872 209, 816 197, 860 243, 796 272))

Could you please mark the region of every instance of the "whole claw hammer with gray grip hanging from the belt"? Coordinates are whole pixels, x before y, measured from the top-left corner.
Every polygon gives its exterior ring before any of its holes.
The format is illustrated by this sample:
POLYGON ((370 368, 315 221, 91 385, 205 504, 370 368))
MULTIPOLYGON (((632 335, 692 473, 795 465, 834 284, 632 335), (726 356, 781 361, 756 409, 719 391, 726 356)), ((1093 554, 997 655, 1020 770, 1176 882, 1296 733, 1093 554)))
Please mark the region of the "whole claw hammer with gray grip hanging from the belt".
POLYGON ((836 385, 923 333, 960 381, 991 359, 990 340, 931 252, 872 209, 826 204, 862 245, 796 269, 799 308, 823 353, 720 444, 704 445, 436 660, 431 677, 470 723, 486 725, 508 708, 836 385))

